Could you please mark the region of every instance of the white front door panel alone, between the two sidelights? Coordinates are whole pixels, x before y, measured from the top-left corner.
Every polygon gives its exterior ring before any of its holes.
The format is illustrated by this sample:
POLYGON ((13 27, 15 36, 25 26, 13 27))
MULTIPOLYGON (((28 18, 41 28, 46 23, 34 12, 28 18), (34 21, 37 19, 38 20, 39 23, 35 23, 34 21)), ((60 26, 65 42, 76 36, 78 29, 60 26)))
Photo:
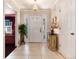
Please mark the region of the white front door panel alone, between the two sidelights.
POLYGON ((42 19, 40 15, 31 15, 29 19, 30 42, 42 42, 42 19))

